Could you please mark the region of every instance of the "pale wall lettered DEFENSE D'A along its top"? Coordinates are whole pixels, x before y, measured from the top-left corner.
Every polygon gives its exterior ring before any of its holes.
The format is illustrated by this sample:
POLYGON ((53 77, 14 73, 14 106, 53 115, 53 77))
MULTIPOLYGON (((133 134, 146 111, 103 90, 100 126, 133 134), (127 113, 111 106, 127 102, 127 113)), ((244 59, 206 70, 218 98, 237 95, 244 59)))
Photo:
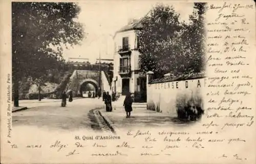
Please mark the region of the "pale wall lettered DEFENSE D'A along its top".
POLYGON ((150 80, 150 76, 147 75, 148 110, 177 116, 178 109, 183 110, 186 106, 196 106, 204 109, 202 91, 205 87, 205 78, 203 76, 169 78, 157 82, 150 80))

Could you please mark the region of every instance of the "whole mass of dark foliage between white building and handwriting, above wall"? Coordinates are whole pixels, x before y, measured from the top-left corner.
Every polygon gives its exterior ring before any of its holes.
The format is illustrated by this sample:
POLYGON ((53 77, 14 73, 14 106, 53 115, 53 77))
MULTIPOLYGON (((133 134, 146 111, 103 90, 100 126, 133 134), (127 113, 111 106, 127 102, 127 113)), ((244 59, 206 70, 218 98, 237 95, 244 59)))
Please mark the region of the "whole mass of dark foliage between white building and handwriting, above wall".
POLYGON ((158 5, 140 22, 141 68, 153 71, 156 78, 198 73, 203 70, 204 5, 195 3, 189 22, 180 22, 173 7, 158 5))

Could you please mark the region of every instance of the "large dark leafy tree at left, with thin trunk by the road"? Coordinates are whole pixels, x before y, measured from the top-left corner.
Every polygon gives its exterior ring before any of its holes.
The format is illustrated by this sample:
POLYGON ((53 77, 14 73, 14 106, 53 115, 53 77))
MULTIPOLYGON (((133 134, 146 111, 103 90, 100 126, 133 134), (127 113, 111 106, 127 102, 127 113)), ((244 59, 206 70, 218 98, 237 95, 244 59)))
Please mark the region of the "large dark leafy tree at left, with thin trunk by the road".
POLYGON ((62 60, 62 46, 78 44, 84 37, 75 21, 75 3, 12 3, 12 79, 14 106, 18 106, 18 82, 37 79, 38 85, 62 60))

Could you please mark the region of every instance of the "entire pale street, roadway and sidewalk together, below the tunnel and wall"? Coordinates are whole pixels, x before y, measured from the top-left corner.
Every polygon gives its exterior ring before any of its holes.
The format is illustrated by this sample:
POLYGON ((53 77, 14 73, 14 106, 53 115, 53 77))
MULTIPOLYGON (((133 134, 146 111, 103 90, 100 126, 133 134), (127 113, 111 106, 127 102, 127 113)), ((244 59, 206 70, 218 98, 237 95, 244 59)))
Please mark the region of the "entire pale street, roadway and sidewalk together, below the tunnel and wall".
POLYGON ((60 107, 61 100, 22 100, 20 106, 28 109, 13 112, 13 127, 34 126, 47 130, 93 130, 117 132, 127 128, 184 127, 187 124, 165 113, 146 110, 145 105, 134 104, 131 118, 125 118, 122 101, 113 102, 113 111, 106 112, 102 99, 75 99, 60 107))

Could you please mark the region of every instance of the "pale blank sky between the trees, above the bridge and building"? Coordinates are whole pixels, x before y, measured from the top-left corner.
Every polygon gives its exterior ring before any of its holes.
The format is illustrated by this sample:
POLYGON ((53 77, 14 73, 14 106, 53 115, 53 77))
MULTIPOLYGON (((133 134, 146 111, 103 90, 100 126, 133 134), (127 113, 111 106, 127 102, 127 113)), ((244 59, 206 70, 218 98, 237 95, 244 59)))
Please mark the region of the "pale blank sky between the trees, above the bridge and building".
POLYGON ((174 3, 170 1, 87 1, 78 3, 81 12, 77 21, 84 26, 87 33, 81 45, 75 45, 64 50, 63 57, 89 58, 95 62, 96 58, 113 59, 116 31, 127 25, 129 19, 139 19, 145 16, 158 3, 173 5, 180 14, 181 20, 188 20, 193 12, 193 3, 174 3))

